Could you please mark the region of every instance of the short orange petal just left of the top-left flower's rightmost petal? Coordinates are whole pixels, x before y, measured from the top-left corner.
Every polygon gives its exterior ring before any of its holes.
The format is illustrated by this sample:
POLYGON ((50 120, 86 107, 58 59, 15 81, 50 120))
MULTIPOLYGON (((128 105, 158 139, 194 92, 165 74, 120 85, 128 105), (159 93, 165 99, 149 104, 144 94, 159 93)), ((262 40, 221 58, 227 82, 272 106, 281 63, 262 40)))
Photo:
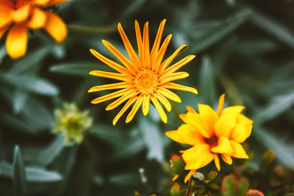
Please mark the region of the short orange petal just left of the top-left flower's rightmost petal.
POLYGON ((46 13, 39 8, 35 8, 32 11, 32 15, 27 23, 27 26, 32 29, 42 28, 45 26, 46 20, 46 13))

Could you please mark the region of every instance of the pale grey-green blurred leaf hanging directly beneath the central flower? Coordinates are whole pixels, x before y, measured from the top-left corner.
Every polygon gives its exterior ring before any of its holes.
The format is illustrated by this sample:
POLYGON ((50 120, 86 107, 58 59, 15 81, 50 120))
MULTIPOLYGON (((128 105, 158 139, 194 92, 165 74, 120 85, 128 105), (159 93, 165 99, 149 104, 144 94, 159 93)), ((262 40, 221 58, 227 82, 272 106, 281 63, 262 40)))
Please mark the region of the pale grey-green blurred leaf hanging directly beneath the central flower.
POLYGON ((158 162, 163 161, 163 133, 160 132, 158 125, 140 113, 139 129, 148 150, 147 159, 155 159, 158 162))

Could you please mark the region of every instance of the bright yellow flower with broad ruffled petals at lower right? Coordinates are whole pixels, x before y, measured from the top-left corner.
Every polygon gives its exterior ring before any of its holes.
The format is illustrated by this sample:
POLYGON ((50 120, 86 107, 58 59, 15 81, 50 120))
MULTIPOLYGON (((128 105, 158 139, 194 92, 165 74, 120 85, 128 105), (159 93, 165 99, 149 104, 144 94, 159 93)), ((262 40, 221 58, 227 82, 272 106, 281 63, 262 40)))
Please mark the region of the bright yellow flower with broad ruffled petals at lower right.
POLYGON ((214 160, 220 171, 220 159, 231 165, 232 158, 247 159, 241 143, 251 134, 253 121, 241 114, 244 106, 223 108, 224 94, 220 97, 217 112, 209 105, 198 104, 199 114, 187 106, 188 113, 181 114, 182 124, 175 131, 166 135, 181 144, 193 147, 183 150, 182 157, 186 163, 185 170, 191 170, 185 182, 196 172, 214 160))

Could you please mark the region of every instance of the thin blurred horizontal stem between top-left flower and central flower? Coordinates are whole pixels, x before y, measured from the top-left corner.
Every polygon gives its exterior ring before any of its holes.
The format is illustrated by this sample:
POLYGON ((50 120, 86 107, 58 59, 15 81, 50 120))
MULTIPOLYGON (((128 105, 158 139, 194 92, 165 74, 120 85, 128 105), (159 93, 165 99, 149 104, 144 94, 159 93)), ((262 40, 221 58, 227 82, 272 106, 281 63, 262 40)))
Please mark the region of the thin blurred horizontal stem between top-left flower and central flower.
POLYGON ((81 26, 81 25, 67 25, 69 31, 79 32, 79 33, 88 33, 88 34, 105 34, 113 33, 117 30, 116 25, 106 25, 99 27, 90 27, 90 26, 81 26))

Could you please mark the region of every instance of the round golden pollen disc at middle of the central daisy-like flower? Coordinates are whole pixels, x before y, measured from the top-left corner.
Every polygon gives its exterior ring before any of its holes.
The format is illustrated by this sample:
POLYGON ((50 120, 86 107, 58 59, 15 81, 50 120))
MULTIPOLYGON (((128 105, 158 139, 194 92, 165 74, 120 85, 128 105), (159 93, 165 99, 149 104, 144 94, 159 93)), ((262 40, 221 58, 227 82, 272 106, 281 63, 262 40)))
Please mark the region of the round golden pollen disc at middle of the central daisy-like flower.
POLYGON ((135 76, 134 85, 139 93, 152 95, 158 89, 158 75, 151 70, 144 69, 135 76))

